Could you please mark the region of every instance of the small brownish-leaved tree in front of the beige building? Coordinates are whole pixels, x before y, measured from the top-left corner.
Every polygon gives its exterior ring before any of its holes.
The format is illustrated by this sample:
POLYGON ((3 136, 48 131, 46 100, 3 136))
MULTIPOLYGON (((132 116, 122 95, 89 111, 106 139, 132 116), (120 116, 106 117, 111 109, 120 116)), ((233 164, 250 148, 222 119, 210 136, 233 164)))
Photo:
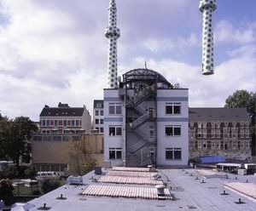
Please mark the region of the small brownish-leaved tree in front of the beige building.
POLYGON ((69 140, 68 156, 70 173, 83 175, 96 167, 96 159, 90 150, 90 137, 83 136, 80 140, 69 140))

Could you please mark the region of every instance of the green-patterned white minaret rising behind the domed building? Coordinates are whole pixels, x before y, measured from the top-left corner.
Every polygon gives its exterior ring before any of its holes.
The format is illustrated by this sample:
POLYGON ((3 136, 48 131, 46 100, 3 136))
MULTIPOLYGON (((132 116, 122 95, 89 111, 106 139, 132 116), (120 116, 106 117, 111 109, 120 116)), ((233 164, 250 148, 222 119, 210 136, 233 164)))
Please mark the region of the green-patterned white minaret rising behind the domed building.
POLYGON ((105 32, 105 36, 108 38, 108 88, 117 88, 117 39, 120 37, 120 30, 116 27, 117 9, 115 0, 110 0, 108 10, 108 28, 105 32))

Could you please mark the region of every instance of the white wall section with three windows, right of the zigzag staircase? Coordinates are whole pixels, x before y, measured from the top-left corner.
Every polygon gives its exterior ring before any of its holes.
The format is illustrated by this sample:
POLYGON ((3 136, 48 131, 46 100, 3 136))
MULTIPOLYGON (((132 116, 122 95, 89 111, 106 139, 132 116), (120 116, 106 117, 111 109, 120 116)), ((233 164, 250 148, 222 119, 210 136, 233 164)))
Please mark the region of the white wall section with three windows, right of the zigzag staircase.
POLYGON ((188 89, 157 91, 157 164, 187 165, 189 161, 188 89), (166 103, 181 103, 181 114, 166 115, 166 103), (166 125, 180 125, 181 136, 166 136, 166 125), (181 148, 181 160, 166 160, 166 148, 181 148))

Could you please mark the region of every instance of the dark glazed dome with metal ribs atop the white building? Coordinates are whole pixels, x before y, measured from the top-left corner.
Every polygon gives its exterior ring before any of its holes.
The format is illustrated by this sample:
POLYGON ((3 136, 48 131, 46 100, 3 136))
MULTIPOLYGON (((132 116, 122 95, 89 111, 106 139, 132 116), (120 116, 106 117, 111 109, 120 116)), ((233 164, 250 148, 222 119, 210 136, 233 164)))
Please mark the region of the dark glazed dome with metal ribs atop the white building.
POLYGON ((165 88, 172 88, 171 83, 169 83, 165 77, 163 77, 157 71, 152 71, 148 69, 135 69, 131 71, 127 71, 123 75, 123 83, 162 83, 165 88))

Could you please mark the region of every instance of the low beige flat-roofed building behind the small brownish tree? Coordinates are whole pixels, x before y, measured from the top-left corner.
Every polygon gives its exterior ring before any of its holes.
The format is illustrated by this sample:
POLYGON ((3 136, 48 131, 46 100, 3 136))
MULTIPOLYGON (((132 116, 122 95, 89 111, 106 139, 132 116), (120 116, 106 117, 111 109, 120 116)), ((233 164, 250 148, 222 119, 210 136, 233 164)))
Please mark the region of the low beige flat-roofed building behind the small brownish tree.
POLYGON ((103 136, 101 134, 34 134, 32 137, 32 164, 37 171, 64 172, 69 169, 70 141, 84 140, 96 164, 103 165, 103 136), (47 137, 47 138, 46 138, 47 137))

